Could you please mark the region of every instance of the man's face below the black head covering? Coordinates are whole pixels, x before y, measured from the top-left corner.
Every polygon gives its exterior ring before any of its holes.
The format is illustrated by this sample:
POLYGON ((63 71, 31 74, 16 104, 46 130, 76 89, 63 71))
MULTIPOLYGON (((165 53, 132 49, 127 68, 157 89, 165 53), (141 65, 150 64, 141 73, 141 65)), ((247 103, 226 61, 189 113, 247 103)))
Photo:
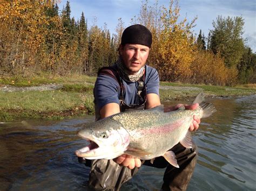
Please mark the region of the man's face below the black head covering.
POLYGON ((119 51, 129 74, 136 74, 145 65, 150 48, 138 44, 125 44, 120 45, 119 51))

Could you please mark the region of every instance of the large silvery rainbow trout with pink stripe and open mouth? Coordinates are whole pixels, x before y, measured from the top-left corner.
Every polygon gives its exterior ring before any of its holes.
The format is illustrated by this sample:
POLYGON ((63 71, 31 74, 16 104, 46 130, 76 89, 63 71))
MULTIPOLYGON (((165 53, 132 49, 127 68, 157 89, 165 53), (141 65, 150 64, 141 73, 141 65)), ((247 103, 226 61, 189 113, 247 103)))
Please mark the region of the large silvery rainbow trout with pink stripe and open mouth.
POLYGON ((196 110, 181 107, 164 112, 163 105, 160 105, 148 110, 120 112, 87 124, 78 136, 90 144, 77 150, 76 155, 85 159, 113 159, 129 154, 142 160, 163 156, 178 168, 176 156, 169 151, 170 148, 178 143, 191 148, 188 129, 193 116, 208 117, 216 111, 212 103, 203 100, 203 93, 200 93, 193 102, 199 103, 196 110))

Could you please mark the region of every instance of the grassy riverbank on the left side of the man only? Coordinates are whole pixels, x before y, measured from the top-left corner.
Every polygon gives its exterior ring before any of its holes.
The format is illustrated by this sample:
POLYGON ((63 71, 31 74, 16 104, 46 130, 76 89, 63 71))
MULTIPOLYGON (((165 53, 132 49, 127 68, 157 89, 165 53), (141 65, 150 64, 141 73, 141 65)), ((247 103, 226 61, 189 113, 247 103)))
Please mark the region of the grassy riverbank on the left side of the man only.
POLYGON ((93 114, 93 83, 96 77, 86 75, 51 76, 43 74, 24 79, 2 77, 0 88, 33 87, 43 84, 62 84, 62 88, 49 91, 1 91, 0 121, 19 118, 63 119, 77 115, 93 114))

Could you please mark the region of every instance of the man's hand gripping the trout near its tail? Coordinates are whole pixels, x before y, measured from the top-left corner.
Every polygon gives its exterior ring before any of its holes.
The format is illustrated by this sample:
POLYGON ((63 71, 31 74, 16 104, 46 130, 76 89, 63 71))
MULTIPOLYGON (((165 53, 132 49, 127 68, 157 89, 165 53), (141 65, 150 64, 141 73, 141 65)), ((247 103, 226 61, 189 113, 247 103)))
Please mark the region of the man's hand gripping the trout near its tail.
MULTIPOLYGON (((195 110, 195 109, 198 108, 199 104, 194 103, 194 104, 191 104, 191 105, 183 105, 183 104, 179 103, 175 106, 164 108, 164 112, 175 111, 175 110, 179 109, 182 106, 184 106, 186 109, 189 109, 189 110, 195 110)), ((196 131, 199 127, 199 124, 200 124, 200 119, 197 116, 193 116, 193 117, 194 117, 194 120, 190 125, 190 131, 196 131)))

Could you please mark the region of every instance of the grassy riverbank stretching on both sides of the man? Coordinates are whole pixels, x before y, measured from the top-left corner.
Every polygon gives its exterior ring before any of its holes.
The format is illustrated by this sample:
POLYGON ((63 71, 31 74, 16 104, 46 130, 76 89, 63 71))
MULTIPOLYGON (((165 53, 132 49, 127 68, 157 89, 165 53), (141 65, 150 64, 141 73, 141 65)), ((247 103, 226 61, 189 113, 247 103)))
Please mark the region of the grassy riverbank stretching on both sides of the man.
MULTIPOLYGON (((2 77, 0 88, 31 87, 42 84, 61 84, 58 90, 47 91, 2 91, 0 90, 0 121, 19 118, 63 119, 77 115, 93 114, 93 83, 95 77, 85 75, 51 76, 42 75, 24 79, 22 77, 2 77), (46 76, 46 77, 45 77, 46 76)), ((200 91, 206 96, 243 96, 256 94, 255 84, 238 87, 219 87, 160 82, 161 101, 187 100, 200 91)))

